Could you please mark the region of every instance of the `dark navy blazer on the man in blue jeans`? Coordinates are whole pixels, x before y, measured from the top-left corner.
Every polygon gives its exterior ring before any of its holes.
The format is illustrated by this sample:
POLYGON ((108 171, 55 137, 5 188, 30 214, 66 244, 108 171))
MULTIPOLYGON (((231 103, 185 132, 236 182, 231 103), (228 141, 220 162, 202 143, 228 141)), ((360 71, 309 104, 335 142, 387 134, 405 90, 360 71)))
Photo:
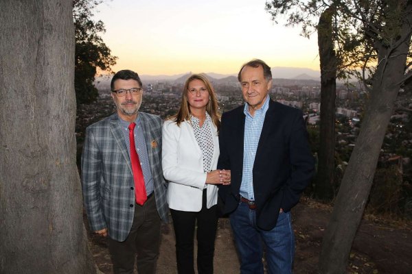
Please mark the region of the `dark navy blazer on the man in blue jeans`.
MULTIPOLYGON (((236 210, 242 182, 244 105, 225 112, 219 133, 218 169, 231 170, 231 184, 220 186, 223 214, 236 210)), ((256 223, 260 229, 275 227, 279 210, 288 212, 299 202, 314 173, 303 114, 275 101, 269 108, 253 164, 256 223)))

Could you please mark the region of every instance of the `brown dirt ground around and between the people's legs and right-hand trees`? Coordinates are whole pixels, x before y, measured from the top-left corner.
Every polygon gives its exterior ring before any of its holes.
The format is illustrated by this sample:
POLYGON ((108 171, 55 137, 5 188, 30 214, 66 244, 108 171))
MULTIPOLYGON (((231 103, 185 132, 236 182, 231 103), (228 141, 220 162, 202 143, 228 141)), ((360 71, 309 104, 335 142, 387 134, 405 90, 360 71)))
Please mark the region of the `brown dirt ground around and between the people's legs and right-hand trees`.
MULTIPOLYGON (((304 198, 293 209, 293 227, 296 236, 294 273, 317 273, 321 240, 332 208, 304 198)), ((387 221, 375 216, 365 216, 358 229, 347 273, 412 273, 411 223, 387 221)), ((92 235, 90 247, 100 271, 113 273, 106 240, 92 235)), ((196 251, 195 251, 196 253, 196 251)), ((195 257, 196 261, 196 257, 195 257)), ((216 274, 239 273, 239 260, 228 219, 220 219, 216 236, 214 257, 216 274)), ((137 273, 137 272, 136 272, 137 273)), ((162 226, 158 274, 174 274, 174 232, 172 224, 162 226)))

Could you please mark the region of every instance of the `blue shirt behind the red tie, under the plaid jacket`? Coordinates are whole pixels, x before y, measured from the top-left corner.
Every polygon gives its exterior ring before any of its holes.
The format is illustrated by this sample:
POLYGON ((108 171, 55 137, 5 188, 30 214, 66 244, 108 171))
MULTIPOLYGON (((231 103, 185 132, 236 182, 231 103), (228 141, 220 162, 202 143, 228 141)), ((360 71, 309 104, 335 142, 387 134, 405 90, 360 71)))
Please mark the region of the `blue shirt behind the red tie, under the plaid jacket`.
MULTIPOLYGON (((124 136, 124 140, 126 141, 126 147, 127 147, 127 151, 130 157, 130 140, 128 136, 128 132, 129 132, 128 126, 130 125, 130 122, 124 121, 120 119, 119 117, 119 123, 122 129, 124 129, 123 136, 124 136)), ((149 163, 148 150, 146 148, 146 140, 144 138, 143 131, 141 130, 140 116, 137 116, 135 123, 136 123, 136 126, 133 132, 135 133, 136 151, 137 151, 137 154, 139 155, 141 170, 143 171, 144 186, 146 187, 146 195, 150 195, 153 192, 153 177, 152 177, 152 171, 150 171, 150 163, 149 163)))

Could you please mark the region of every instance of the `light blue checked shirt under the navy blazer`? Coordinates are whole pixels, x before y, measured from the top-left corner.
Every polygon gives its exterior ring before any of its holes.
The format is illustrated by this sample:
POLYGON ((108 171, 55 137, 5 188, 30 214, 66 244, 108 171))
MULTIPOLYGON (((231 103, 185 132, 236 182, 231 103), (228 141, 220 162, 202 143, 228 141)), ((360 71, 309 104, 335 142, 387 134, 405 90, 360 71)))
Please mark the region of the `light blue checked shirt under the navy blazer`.
POLYGON ((269 95, 266 96, 262 108, 255 110, 255 116, 249 113, 249 105, 244 105, 244 141, 243 141, 243 172, 242 184, 240 184, 240 195, 242 197, 255 201, 253 193, 253 163, 255 162, 256 150, 262 132, 264 116, 269 108, 269 95))

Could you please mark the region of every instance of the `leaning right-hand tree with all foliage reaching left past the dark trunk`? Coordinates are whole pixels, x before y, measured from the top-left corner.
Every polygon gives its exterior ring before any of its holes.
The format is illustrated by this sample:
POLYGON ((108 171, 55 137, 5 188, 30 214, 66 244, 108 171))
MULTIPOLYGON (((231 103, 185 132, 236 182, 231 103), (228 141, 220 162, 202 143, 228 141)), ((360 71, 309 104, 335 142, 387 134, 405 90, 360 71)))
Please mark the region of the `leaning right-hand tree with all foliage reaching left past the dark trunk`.
POLYGON ((345 273, 396 97, 402 84, 412 76, 412 62, 407 62, 411 57, 412 1, 271 1, 271 7, 277 8, 275 15, 289 14, 290 22, 302 23, 304 30, 332 4, 336 7, 335 24, 340 29, 335 42, 343 45, 339 47, 342 64, 352 69, 361 67, 363 79, 365 71, 371 76, 365 79, 369 91, 367 110, 319 259, 321 273, 345 273))

